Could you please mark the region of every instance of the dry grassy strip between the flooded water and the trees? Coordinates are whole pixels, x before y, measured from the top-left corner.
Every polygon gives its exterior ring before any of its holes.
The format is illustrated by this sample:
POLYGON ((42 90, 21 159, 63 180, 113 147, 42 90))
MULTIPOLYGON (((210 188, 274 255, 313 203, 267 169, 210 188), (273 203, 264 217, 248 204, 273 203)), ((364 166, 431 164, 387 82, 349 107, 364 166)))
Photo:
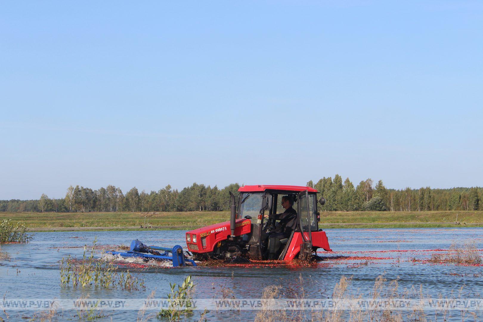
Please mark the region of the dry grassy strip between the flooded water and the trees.
MULTIPOLYGON (((0 212, 28 231, 192 230, 229 221, 228 211, 186 212, 0 212), (147 227, 147 228, 146 228, 147 227)), ((455 228, 483 227, 483 211, 321 211, 319 227, 455 228)))

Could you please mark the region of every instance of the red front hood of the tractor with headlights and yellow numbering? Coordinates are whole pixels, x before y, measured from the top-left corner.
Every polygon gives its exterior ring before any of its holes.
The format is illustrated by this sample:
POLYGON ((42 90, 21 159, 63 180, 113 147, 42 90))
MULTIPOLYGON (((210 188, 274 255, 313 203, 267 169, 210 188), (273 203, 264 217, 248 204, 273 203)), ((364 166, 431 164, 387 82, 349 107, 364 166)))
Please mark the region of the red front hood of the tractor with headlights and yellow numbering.
MULTIPOLYGON (((235 236, 248 234, 252 231, 250 219, 235 221, 235 236)), ((215 245, 230 237, 230 222, 212 224, 206 227, 190 230, 186 233, 186 245, 191 252, 213 252, 215 245)))

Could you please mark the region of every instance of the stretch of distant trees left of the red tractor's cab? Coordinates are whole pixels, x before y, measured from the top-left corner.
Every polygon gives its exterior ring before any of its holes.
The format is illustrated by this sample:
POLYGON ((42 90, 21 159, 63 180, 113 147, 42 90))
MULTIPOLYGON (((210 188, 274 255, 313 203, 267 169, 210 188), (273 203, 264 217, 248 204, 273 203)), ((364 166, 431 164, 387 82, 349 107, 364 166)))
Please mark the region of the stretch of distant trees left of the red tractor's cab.
POLYGON ((42 194, 37 200, 0 200, 0 211, 221 211, 229 209, 229 192, 236 192, 238 188, 238 183, 223 189, 193 183, 178 191, 168 184, 158 191, 142 190, 140 193, 134 187, 123 194, 121 188, 114 185, 97 190, 76 185, 67 188, 66 196, 59 199, 42 194))

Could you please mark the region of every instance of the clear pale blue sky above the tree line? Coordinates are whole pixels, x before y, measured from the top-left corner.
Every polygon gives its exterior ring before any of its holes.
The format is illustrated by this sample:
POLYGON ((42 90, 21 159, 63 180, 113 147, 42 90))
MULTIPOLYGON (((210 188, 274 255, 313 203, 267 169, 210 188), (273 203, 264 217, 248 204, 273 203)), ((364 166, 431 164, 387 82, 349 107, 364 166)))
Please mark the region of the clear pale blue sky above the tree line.
POLYGON ((0 199, 483 185, 481 1, 10 1, 0 199))

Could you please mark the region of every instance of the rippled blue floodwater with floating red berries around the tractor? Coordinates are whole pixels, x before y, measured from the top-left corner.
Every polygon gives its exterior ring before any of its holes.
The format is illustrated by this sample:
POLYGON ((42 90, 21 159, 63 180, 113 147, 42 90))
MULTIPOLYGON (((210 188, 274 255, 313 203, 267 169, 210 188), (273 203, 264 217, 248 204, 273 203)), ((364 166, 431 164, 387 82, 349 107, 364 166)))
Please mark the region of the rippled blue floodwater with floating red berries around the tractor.
MULTIPOLYGON (((82 258, 84 245, 92 245, 96 237, 98 247, 95 258, 100 258, 105 250, 129 245, 135 238, 147 245, 185 246, 185 231, 34 233, 28 244, 1 245, 0 250, 4 255, 0 257, 0 295, 7 300, 72 299, 86 296, 95 299, 145 299, 155 291, 155 298, 165 298, 170 292, 170 283, 183 282, 191 274, 196 285, 195 299, 259 299, 262 298, 263 289, 270 285, 280 287, 276 295, 279 298, 327 299, 332 298, 337 283, 340 290, 343 276, 352 277, 345 290, 347 294, 372 298, 376 279, 384 275, 388 289, 391 280, 398 280, 398 294, 393 294, 394 297, 412 293, 413 298, 421 294, 431 298, 483 298, 481 262, 452 263, 447 256, 452 243, 461 247, 465 243, 474 243, 476 255, 483 256, 483 228, 327 229, 326 232, 334 252, 319 252, 324 261, 306 267, 273 262, 270 265, 170 268, 165 265, 146 265, 142 261, 104 258, 114 262, 119 271, 126 272, 129 269, 133 277, 144 280, 145 287, 131 290, 62 286, 59 262, 68 255, 82 258)), ((390 287, 394 289, 394 282, 390 287)), ((380 295, 381 298, 389 296, 385 293, 380 295)), ((202 312, 194 311, 188 320, 199 321, 202 312)), ((412 311, 399 312, 404 320, 416 319, 412 311)), ((147 310, 142 319, 150 313, 156 311, 147 310)), ((426 309, 424 313, 430 319, 435 319, 434 310, 426 309)), ((58 310, 52 315, 52 321, 78 320, 78 314, 76 311, 58 310)), ((138 314, 141 314, 138 309, 103 309, 102 314, 98 314, 102 316, 98 321, 136 321, 140 317, 138 314)), ((204 318, 208 321, 253 321, 257 314, 257 318, 261 319, 260 310, 212 309, 204 318)), ((346 315, 339 318, 345 320, 350 313, 343 314, 346 315)), ((461 314, 460 310, 452 310, 447 313, 446 320, 461 321, 461 314)), ((473 314, 468 310, 463 314, 468 321, 483 318, 481 310, 473 311, 473 314)), ((297 315, 298 319, 300 316, 297 315)), ((0 317, 6 321, 28 321, 32 317, 40 317, 40 312, 6 310, 0 312, 0 317)), ((436 318, 441 321, 441 315, 436 318)), ((318 320, 311 311, 305 313, 302 319, 318 320)))

